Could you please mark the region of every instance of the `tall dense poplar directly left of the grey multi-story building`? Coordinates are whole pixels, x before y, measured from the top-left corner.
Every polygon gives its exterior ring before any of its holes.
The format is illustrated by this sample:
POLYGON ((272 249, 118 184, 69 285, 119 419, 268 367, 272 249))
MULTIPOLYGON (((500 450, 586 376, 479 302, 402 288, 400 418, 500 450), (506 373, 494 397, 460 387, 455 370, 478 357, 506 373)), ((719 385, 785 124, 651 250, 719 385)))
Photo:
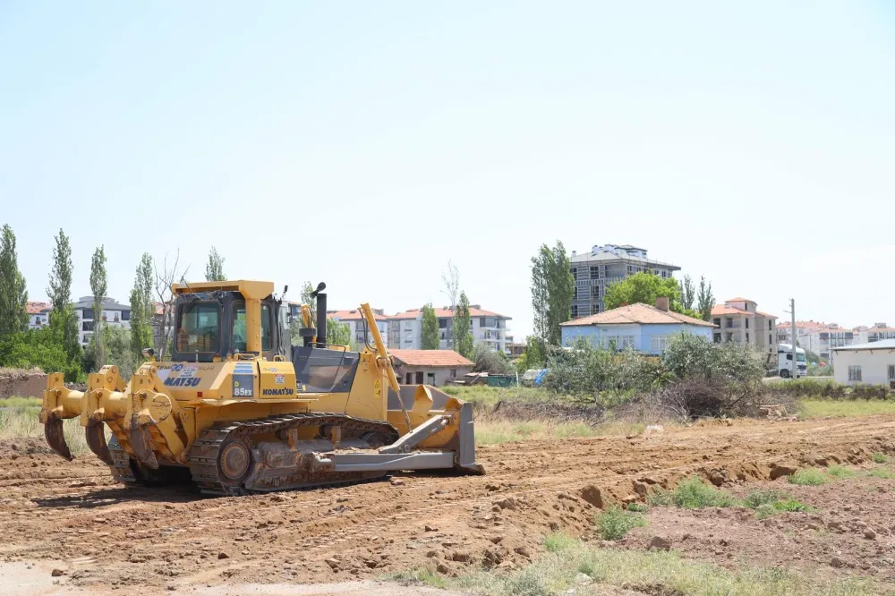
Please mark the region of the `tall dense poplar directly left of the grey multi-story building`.
POLYGON ((570 268, 566 248, 558 241, 552 249, 541 244, 538 254, 532 258, 534 332, 548 345, 562 342, 559 324, 572 316, 575 278, 570 268))

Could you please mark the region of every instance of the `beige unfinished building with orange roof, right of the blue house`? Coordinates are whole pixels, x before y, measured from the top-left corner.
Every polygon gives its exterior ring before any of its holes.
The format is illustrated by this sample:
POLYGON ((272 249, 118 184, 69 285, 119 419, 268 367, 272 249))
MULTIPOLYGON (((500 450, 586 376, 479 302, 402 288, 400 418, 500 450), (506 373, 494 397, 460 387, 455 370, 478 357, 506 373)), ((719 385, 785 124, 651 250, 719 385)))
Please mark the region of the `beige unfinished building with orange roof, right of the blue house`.
POLYGON ((775 324, 777 316, 759 311, 757 302, 748 298, 731 298, 712 308, 712 339, 716 344, 733 342, 751 345, 763 353, 777 353, 779 341, 775 324))

